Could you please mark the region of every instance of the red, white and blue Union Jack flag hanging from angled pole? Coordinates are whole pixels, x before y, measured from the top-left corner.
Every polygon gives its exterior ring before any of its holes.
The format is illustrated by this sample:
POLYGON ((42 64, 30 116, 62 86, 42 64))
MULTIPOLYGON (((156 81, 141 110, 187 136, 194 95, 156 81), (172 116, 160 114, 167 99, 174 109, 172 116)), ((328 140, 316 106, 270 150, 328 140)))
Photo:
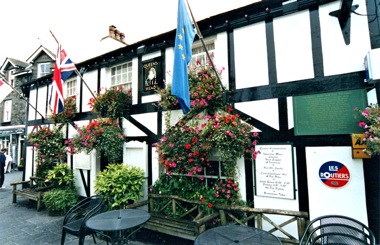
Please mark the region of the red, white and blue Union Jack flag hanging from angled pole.
POLYGON ((57 57, 54 64, 53 84, 49 104, 53 114, 60 113, 63 108, 62 83, 76 70, 73 61, 70 60, 62 46, 58 44, 57 57))

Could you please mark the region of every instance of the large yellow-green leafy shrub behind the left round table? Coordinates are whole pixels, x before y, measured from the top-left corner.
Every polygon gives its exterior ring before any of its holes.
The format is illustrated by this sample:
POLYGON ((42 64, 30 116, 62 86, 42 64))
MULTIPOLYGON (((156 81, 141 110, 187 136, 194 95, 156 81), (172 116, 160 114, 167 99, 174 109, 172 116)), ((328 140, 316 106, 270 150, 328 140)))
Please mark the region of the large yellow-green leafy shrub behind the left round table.
POLYGON ((138 201, 139 196, 143 196, 144 181, 144 171, 140 168, 110 164, 94 180, 95 193, 104 197, 111 210, 123 209, 128 202, 138 201))

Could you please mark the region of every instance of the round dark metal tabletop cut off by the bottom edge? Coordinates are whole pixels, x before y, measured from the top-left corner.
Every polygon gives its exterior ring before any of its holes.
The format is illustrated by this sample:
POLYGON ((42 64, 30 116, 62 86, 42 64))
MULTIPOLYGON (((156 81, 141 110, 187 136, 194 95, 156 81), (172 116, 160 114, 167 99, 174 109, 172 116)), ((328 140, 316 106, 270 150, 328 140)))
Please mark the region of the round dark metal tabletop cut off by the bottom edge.
POLYGON ((281 245, 275 235, 254 227, 220 226, 201 233, 194 245, 281 245))

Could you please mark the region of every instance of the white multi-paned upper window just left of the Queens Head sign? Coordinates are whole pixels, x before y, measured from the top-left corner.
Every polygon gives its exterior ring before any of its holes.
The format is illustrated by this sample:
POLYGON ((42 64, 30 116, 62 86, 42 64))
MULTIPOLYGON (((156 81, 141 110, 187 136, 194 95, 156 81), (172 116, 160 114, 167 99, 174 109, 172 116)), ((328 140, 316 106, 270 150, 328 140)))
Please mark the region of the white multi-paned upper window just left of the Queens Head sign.
POLYGON ((111 88, 127 90, 132 85, 132 62, 111 68, 111 88))

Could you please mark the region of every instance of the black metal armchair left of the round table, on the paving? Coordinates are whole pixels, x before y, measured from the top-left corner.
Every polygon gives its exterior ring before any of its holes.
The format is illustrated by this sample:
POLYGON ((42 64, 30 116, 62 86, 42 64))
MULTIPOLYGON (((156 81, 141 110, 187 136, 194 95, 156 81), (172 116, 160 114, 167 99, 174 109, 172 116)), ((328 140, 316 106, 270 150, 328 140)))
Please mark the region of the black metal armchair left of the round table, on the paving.
POLYGON ((102 196, 87 197, 78 202, 66 214, 63 220, 61 245, 65 244, 66 233, 79 238, 79 245, 83 245, 84 237, 92 235, 95 241, 95 232, 86 227, 86 221, 94 215, 107 211, 107 205, 102 196))

